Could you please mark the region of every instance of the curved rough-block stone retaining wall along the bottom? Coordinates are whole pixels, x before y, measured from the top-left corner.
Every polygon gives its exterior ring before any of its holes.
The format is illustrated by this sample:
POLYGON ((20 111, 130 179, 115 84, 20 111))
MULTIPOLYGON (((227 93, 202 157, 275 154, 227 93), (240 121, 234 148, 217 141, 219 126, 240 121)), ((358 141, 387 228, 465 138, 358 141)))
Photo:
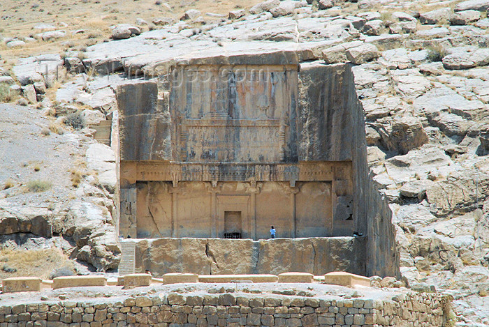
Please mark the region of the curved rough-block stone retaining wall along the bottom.
MULTIPOLYGON (((229 290, 228 290, 229 291, 229 290)), ((0 327, 27 326, 444 326, 449 300, 179 294, 0 306, 0 327)))

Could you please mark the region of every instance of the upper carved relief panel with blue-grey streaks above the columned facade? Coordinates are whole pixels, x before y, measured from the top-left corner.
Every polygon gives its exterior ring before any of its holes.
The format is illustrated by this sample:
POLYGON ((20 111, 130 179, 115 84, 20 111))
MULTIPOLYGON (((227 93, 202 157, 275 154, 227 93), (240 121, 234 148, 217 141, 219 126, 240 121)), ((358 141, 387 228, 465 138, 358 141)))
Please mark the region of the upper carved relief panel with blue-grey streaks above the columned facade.
POLYGON ((296 162, 298 67, 175 66, 173 161, 296 162))

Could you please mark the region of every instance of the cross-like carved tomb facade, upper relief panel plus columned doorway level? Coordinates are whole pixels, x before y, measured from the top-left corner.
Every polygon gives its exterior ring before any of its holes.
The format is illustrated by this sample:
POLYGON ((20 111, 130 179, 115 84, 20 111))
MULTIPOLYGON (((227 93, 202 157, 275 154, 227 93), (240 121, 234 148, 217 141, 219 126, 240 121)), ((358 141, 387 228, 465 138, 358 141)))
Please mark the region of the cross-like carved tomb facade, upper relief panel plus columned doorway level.
POLYGON ((352 234, 352 162, 298 158, 298 66, 171 76, 171 159, 122 158, 123 236, 258 239, 272 225, 278 237, 352 234))

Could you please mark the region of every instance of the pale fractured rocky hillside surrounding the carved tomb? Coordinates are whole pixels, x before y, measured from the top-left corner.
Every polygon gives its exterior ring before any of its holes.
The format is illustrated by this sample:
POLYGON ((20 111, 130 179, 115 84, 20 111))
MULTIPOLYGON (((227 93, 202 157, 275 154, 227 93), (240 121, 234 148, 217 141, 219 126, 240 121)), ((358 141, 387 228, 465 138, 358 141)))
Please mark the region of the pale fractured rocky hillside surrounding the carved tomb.
MULTIPOLYGON (((177 61, 198 63, 220 56, 233 62, 233 55, 247 54, 250 62, 259 62, 259 55, 268 53, 292 54, 300 61, 351 62, 365 109, 372 178, 394 212, 404 282, 452 294, 459 326, 487 326, 488 8, 488 0, 268 0, 249 10, 232 10, 219 22, 189 10, 182 20, 161 21, 152 31, 143 32, 141 21, 114 26, 106 35, 112 40, 81 54, 21 59, 0 81, 12 84, 3 86, 10 89, 8 98, 20 92, 33 103, 50 98, 38 107, 59 123, 68 114, 79 114, 96 125, 117 116, 117 84, 140 77, 163 83, 177 61), (54 78, 54 72, 64 69, 69 72, 64 79, 54 78)), ((92 142, 81 142, 80 153, 91 149, 92 142)), ((99 150, 94 153, 104 154, 90 158, 87 151, 84 160, 97 162, 98 177, 109 172, 108 177, 113 157, 109 149, 99 150)), ((17 177, 16 183, 27 183, 24 175, 17 177)), ((113 232, 113 179, 102 181, 83 174, 78 188, 68 185, 75 193, 70 199, 74 204, 49 209, 53 232, 73 237, 72 253, 99 269, 117 266, 112 259, 117 249, 103 243, 113 232), (75 229, 70 236, 66 223, 54 223, 61 212, 72 224, 78 218, 95 218, 71 225, 75 229), (89 227, 80 227, 84 225, 89 227), (101 227, 105 232, 98 236, 101 227)), ((0 206, 18 207, 25 201, 22 197, 6 197, 0 206)))

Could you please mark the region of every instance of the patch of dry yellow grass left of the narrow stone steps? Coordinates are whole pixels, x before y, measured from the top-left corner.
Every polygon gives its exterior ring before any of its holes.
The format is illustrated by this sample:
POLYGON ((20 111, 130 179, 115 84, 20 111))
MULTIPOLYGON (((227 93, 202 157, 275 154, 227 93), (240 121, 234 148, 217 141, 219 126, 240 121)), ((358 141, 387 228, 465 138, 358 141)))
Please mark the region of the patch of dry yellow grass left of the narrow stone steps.
POLYGON ((43 250, 0 250, 0 280, 7 277, 35 276, 47 279, 54 268, 73 266, 57 248, 43 250), (15 269, 7 273, 2 268, 15 269))

